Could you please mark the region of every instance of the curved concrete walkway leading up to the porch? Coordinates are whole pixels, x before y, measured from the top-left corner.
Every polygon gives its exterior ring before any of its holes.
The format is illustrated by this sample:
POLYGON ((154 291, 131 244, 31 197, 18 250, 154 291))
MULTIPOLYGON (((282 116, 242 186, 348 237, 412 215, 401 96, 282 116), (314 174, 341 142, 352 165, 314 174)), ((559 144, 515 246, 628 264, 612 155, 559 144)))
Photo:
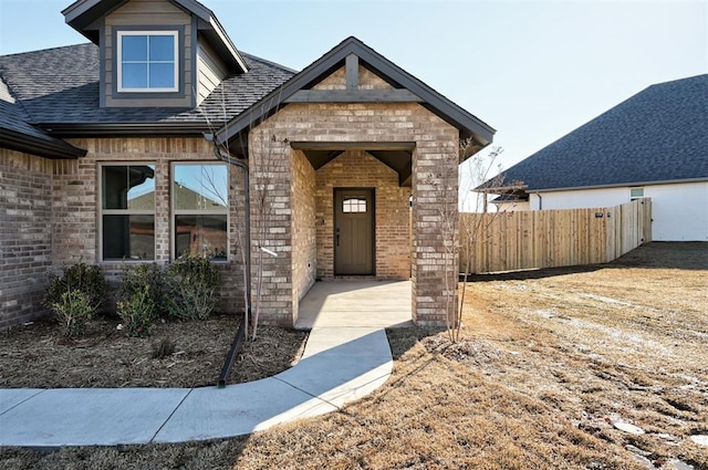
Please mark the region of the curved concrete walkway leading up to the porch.
MULTIPOLYGON (((358 289, 360 294, 372 295, 366 289, 358 289)), ((385 290, 376 294, 388 296, 385 290)), ((335 296, 325 295, 333 305, 341 305, 335 296)), ((408 288, 404 301, 409 303, 409 299, 408 288)), ((340 315, 321 311, 321 318, 327 320, 317 324, 319 315, 312 314, 313 326, 301 361, 261 380, 221 389, 0 389, 0 446, 113 446, 226 438, 337 410, 382 386, 391 376, 393 359, 384 325, 366 326, 363 310, 340 315)), ((369 321, 377 317, 368 315, 369 321)))

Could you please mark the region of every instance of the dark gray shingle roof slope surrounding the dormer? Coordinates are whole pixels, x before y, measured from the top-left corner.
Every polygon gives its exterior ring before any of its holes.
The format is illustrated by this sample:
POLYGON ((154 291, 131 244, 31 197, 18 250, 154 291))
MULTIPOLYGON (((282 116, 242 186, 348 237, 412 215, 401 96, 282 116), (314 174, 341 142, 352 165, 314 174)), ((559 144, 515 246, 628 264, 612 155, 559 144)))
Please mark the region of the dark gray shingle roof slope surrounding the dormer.
POLYGON ((249 72, 225 80, 195 108, 115 108, 98 103, 98 48, 70 45, 0 56, 0 77, 31 124, 222 123, 290 79, 294 71, 243 54, 249 72))

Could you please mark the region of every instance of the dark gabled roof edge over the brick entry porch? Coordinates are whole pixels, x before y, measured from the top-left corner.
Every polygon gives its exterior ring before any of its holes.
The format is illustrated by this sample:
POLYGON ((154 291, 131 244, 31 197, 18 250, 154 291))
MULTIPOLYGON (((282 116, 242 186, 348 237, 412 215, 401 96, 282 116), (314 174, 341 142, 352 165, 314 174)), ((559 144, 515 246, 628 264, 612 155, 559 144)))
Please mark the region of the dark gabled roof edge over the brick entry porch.
MULTIPOLYGON (((468 113, 450 100, 446 98, 430 86, 410 75, 366 44, 354 36, 350 36, 334 46, 330 52, 317 59, 311 65, 290 79, 281 87, 273 90, 249 109, 233 118, 217 133, 218 142, 242 139, 253 123, 269 117, 287 100, 300 90, 309 90, 335 70, 342 67, 346 56, 354 54, 360 63, 372 70, 378 76, 392 84, 395 88, 405 88, 420 98, 420 104, 440 118, 450 123, 460 130, 461 138, 472 137, 479 147, 490 144, 496 130, 468 113)), ((242 144, 241 147, 244 145, 242 144)), ((239 146, 230 146, 238 148, 239 146)))

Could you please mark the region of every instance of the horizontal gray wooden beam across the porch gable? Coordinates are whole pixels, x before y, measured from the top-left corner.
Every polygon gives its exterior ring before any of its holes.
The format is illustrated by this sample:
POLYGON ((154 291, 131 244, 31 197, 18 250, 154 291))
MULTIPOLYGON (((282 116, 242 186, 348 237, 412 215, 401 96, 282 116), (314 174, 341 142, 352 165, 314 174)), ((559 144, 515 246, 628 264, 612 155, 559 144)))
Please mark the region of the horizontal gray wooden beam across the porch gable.
POLYGON ((423 103, 405 88, 388 90, 300 90, 285 103, 423 103))

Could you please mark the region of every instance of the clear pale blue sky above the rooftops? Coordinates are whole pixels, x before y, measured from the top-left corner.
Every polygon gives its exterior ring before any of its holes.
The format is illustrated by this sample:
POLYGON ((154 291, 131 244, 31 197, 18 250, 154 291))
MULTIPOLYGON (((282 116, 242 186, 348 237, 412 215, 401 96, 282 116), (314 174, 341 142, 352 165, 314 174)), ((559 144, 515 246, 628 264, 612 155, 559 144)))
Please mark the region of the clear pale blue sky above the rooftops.
MULTIPOLYGON (((708 1, 201 0, 300 70, 355 35, 494 127, 504 168, 654 83, 708 73, 708 1)), ((0 54, 85 42, 70 0, 0 0, 0 54)))

